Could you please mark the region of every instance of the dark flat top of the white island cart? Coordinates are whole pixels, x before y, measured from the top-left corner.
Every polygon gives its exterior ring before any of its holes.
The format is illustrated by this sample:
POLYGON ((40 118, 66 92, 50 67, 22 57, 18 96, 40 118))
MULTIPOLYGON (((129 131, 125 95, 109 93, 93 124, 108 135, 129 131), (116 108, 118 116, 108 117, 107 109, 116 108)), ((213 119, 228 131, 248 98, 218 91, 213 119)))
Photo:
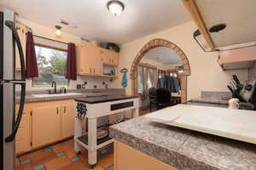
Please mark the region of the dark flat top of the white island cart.
POLYGON ((109 101, 116 101, 116 100, 122 100, 122 99, 135 99, 138 98, 138 96, 132 96, 132 95, 110 95, 110 96, 99 96, 99 97, 91 97, 91 98, 76 98, 75 101, 84 102, 87 104, 98 104, 98 103, 104 103, 109 101))

